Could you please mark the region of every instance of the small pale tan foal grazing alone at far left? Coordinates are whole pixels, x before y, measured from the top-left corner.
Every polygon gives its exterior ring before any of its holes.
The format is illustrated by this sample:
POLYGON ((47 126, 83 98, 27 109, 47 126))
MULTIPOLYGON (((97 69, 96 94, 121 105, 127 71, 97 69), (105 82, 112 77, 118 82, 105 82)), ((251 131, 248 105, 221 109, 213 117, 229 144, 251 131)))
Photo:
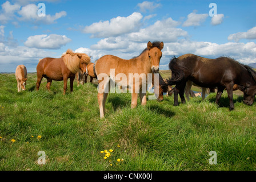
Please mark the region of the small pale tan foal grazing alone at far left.
POLYGON ((17 80, 18 92, 26 90, 26 81, 27 81, 27 68, 25 65, 18 65, 15 71, 15 77, 17 80))

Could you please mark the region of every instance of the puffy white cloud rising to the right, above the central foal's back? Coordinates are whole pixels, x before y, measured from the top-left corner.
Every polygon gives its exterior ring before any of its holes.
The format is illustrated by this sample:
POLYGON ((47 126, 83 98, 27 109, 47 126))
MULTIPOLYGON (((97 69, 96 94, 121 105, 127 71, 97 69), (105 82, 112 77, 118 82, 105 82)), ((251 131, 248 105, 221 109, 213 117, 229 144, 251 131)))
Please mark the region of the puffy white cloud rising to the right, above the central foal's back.
POLYGON ((91 38, 105 38, 108 36, 119 36, 133 31, 138 31, 141 27, 142 15, 133 13, 127 17, 117 16, 104 22, 93 23, 83 29, 84 33, 92 34, 91 38))

